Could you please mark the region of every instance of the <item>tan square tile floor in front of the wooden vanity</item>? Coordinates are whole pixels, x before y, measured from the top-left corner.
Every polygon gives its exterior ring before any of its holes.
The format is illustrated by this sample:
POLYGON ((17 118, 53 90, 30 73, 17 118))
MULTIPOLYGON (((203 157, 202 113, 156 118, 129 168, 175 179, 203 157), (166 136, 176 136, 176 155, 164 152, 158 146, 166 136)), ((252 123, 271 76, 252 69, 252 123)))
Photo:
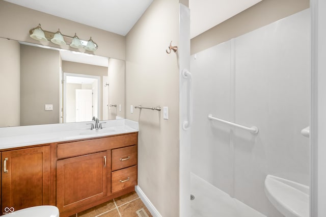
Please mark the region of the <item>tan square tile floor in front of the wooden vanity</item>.
POLYGON ((70 217, 138 217, 137 210, 144 208, 152 216, 136 192, 123 195, 70 217))

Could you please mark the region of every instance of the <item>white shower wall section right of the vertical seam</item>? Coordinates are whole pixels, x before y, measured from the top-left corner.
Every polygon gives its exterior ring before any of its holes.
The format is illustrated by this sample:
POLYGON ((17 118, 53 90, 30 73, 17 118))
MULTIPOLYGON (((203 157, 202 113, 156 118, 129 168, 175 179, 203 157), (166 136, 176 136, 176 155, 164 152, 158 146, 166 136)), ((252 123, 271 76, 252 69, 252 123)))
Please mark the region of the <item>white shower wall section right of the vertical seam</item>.
POLYGON ((309 10, 235 39, 234 196, 266 214, 264 179, 309 185, 309 10))

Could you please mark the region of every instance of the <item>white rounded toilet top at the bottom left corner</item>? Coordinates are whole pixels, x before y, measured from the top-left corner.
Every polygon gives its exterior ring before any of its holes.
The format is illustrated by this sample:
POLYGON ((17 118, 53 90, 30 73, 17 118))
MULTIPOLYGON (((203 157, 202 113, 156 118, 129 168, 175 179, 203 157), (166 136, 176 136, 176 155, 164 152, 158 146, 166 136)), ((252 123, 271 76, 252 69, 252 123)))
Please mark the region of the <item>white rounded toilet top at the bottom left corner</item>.
POLYGON ((14 212, 10 212, 3 216, 15 216, 15 217, 59 217, 59 209, 56 206, 33 206, 25 209, 20 209, 14 212))

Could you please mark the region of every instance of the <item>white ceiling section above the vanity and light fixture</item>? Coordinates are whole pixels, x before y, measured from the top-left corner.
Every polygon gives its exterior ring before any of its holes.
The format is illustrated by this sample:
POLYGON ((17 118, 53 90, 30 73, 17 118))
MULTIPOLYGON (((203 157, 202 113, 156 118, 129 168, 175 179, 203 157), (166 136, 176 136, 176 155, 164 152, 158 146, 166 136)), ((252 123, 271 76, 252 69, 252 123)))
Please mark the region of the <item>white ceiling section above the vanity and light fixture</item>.
POLYGON ((5 0, 26 8, 127 35, 153 0, 5 0))

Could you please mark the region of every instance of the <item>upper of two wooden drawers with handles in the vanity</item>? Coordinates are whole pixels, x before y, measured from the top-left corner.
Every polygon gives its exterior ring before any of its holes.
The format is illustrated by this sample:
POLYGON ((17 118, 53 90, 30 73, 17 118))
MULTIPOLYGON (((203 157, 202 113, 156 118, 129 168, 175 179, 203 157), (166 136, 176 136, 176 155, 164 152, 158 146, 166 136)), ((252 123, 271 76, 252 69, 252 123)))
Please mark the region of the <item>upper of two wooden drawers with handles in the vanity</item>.
POLYGON ((137 145, 112 150, 112 171, 137 165, 137 145))

